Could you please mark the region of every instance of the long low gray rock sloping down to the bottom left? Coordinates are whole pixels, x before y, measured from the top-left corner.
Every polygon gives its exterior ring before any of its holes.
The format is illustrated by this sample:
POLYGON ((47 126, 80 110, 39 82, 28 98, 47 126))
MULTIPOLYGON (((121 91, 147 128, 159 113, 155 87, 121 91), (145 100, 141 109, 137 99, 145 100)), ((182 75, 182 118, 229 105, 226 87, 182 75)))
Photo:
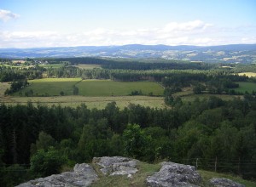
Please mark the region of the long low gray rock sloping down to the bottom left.
POLYGON ((20 184, 18 187, 84 187, 89 186, 97 179, 98 176, 94 169, 90 165, 83 163, 76 164, 73 172, 54 174, 46 178, 37 178, 20 184))

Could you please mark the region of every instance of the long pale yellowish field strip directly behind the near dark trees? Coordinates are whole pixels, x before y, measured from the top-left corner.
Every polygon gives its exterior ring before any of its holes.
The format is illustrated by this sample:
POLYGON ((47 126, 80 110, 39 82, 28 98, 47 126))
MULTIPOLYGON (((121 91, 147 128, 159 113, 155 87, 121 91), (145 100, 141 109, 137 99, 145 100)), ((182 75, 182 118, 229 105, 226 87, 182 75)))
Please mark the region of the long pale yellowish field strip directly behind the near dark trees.
POLYGON ((163 97, 149 97, 149 96, 119 96, 119 97, 84 97, 84 96, 55 96, 55 97, 0 97, 0 103, 6 105, 26 105, 30 101, 32 104, 37 105, 61 105, 77 107, 85 104, 89 109, 97 108, 103 109, 110 102, 116 102, 120 109, 130 104, 143 105, 153 108, 165 108, 165 101, 163 97))

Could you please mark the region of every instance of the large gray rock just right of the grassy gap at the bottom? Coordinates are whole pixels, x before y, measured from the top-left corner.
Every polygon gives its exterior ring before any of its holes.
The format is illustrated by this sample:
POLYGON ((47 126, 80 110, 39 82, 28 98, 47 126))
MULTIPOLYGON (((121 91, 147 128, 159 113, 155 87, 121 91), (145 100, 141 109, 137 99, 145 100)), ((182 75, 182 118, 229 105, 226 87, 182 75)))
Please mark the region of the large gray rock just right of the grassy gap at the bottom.
POLYGON ((147 186, 199 186, 201 176, 195 167, 174 162, 162 162, 160 171, 146 179, 147 186))

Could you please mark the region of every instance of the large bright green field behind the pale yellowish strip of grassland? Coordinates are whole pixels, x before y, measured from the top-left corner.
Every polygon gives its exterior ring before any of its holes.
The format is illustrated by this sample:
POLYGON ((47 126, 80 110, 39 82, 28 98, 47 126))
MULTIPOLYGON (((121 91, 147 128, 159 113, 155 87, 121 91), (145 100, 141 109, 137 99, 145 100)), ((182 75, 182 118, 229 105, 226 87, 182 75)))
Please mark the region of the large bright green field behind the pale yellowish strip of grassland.
POLYGON ((132 91, 142 91, 143 95, 152 93, 161 96, 164 89, 156 82, 113 82, 110 80, 82 80, 81 78, 45 78, 29 81, 30 85, 14 96, 24 96, 33 91, 34 96, 57 96, 61 91, 65 95, 73 94, 73 86, 79 88, 83 96, 125 96, 132 91))

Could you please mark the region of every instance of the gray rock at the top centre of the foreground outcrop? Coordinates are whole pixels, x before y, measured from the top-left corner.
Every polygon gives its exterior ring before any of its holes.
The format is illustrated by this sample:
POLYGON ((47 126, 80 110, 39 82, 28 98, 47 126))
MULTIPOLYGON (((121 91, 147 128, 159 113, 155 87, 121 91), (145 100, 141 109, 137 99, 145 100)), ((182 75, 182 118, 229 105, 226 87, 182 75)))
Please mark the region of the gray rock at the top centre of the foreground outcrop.
POLYGON ((122 156, 95 157, 93 162, 102 167, 100 170, 104 175, 131 175, 137 173, 137 161, 122 156))

